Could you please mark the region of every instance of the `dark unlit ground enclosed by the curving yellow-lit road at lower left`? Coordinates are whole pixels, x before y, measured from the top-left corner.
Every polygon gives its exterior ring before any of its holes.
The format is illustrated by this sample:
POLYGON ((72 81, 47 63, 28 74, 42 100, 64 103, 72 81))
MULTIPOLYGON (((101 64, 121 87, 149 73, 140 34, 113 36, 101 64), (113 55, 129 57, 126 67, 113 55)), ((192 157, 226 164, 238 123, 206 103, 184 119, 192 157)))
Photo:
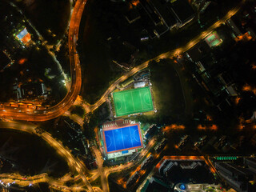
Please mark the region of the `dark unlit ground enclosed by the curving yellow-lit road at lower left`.
POLYGON ((11 170, 25 175, 48 173, 62 177, 69 170, 65 161, 45 141, 37 136, 18 131, 0 130, 0 154, 14 162, 11 170))

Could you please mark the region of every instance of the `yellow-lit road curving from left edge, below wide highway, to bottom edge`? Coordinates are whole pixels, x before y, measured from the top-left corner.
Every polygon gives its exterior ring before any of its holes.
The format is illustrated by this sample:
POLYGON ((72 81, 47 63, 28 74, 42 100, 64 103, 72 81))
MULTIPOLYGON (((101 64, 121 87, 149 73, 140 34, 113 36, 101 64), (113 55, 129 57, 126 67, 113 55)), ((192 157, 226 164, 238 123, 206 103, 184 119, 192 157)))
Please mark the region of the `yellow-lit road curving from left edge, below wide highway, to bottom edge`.
POLYGON ((30 134, 37 134, 43 140, 45 140, 50 146, 54 147, 54 149, 60 154, 63 158, 66 159, 68 165, 70 166, 70 170, 76 170, 80 177, 82 178, 82 182, 86 184, 86 187, 90 191, 94 191, 92 186, 90 186, 90 182, 88 182, 85 173, 89 172, 85 166, 82 165, 81 162, 76 160, 74 156, 70 153, 70 150, 66 149, 62 146, 62 143, 56 141, 54 138, 51 137, 50 134, 43 131, 42 134, 36 132, 35 126, 32 123, 24 123, 24 122, 0 122, 0 129, 11 129, 11 130, 20 130, 25 131, 30 134))

